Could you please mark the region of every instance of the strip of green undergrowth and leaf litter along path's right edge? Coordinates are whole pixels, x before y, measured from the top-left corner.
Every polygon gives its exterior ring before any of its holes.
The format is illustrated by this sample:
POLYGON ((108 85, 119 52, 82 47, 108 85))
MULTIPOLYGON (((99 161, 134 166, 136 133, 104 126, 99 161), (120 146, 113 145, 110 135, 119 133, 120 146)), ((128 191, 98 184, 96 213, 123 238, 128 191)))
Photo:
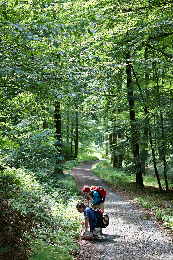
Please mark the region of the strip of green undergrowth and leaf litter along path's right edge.
MULTIPOLYGON (((154 175, 145 174, 143 176, 145 187, 141 188, 136 185, 136 176, 134 174, 130 176, 126 175, 123 170, 112 169, 109 160, 100 161, 94 164, 91 170, 115 187, 128 191, 135 201, 146 209, 154 211, 156 218, 162 220, 164 223, 163 225, 173 230, 173 194, 159 193, 157 179, 154 175)), ((160 180, 164 187, 164 178, 161 178, 160 180)), ((168 182, 171 186, 172 180, 168 179, 168 182)))

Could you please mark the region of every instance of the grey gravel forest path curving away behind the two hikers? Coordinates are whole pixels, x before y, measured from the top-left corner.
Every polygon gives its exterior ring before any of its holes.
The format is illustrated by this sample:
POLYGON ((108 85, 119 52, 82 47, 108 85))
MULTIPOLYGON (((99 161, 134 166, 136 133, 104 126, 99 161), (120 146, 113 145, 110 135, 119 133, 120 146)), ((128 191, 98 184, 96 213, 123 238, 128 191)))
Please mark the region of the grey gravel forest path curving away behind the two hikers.
MULTIPOLYGON (((129 200, 116 195, 115 188, 91 172, 89 162, 74 167, 76 184, 83 197, 84 185, 102 186, 107 191, 104 212, 110 224, 103 229, 103 242, 96 239, 81 240, 77 260, 152 260, 173 259, 172 235, 160 230, 151 219, 146 219, 143 209, 136 209, 129 200)), ((83 200, 84 202, 84 200, 83 200)))

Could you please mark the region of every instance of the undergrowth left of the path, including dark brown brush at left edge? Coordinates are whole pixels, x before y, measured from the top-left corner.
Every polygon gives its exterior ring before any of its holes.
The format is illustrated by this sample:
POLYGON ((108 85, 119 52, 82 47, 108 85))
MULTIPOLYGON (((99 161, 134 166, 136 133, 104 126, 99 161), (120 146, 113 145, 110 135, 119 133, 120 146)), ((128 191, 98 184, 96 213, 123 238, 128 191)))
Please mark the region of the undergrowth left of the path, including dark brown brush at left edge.
POLYGON ((1 172, 0 193, 4 256, 15 245, 22 250, 27 246, 31 260, 72 259, 71 253, 78 249, 81 218, 75 207, 78 190, 72 176, 12 168, 1 172))

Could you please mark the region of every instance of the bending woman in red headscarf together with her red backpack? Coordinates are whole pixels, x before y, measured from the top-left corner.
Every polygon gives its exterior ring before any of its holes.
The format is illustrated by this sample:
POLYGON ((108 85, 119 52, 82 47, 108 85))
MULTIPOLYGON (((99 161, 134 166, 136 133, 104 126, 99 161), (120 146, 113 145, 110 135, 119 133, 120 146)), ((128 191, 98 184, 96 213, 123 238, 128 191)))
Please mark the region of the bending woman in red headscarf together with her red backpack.
POLYGON ((88 199, 91 201, 92 208, 100 208, 104 212, 104 200, 106 197, 106 191, 100 186, 87 186, 82 189, 85 202, 88 203, 88 199))

